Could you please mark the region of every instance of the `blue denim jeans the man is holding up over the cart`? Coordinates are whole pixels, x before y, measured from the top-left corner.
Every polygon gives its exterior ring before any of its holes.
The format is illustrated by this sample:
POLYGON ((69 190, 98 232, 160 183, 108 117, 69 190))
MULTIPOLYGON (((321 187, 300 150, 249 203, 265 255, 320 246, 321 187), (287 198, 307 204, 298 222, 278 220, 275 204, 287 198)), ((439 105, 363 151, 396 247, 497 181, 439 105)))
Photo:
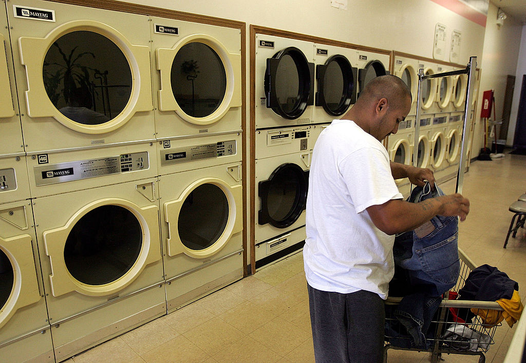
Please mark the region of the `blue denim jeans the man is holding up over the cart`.
MULTIPOLYGON (((426 182, 413 189, 409 202, 444 195, 436 184, 434 190, 426 182)), ((456 283, 460 272, 457 217, 434 216, 415 230, 395 238, 395 265, 408 271, 413 291, 440 296, 456 283)))

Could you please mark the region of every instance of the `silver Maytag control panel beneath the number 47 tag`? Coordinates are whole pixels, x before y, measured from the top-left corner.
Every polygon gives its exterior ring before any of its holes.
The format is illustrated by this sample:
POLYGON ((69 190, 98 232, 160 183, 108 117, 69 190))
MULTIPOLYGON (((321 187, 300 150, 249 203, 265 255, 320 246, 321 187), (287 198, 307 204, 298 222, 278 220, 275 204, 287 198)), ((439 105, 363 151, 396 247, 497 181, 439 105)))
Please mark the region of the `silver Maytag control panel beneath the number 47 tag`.
POLYGON ((161 166, 236 155, 236 141, 222 141, 215 144, 194 145, 161 150, 161 166))

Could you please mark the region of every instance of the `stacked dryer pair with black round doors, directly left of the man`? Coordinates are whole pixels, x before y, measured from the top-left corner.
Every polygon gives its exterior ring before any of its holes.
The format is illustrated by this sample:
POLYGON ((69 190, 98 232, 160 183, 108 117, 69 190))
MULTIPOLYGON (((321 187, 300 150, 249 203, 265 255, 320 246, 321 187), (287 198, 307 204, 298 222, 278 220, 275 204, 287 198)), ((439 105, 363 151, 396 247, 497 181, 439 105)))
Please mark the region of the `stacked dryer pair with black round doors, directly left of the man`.
POLYGON ((303 247, 315 100, 313 43, 255 42, 253 271, 303 247))

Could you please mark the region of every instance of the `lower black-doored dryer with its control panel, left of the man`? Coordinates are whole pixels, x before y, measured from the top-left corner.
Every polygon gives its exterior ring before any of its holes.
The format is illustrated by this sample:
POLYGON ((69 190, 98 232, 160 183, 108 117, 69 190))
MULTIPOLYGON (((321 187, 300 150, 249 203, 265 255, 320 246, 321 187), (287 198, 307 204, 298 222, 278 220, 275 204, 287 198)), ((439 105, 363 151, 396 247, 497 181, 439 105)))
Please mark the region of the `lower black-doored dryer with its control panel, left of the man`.
POLYGON ((256 269, 295 253, 305 243, 313 133, 313 126, 306 125, 256 131, 256 269))

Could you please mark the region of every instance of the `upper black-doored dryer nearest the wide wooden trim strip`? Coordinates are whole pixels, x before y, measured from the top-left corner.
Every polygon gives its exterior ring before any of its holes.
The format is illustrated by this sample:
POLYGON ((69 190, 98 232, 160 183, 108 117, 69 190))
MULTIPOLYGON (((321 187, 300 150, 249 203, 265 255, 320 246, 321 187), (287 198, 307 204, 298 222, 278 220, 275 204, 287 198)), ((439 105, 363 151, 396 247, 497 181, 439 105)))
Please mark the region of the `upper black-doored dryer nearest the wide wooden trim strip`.
POLYGON ((256 129, 312 123, 314 44, 256 34, 256 129))

